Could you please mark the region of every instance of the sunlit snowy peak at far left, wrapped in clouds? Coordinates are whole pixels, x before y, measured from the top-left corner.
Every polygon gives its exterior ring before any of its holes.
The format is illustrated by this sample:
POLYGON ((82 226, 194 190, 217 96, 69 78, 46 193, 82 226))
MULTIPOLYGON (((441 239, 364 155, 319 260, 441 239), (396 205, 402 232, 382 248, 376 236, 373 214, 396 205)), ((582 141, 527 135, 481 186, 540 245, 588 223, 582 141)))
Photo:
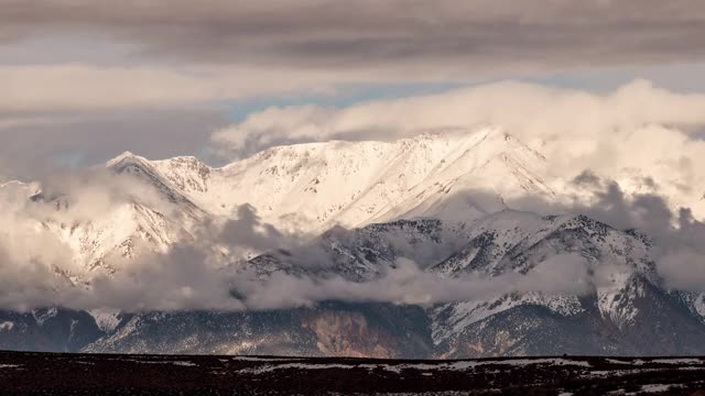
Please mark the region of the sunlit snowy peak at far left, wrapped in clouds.
MULTIPOLYGON (((126 153, 107 166, 116 175, 129 175, 144 185, 122 191, 119 198, 108 196, 109 204, 101 202, 99 211, 83 208, 80 196, 47 196, 37 185, 15 183, 0 188, 0 195, 6 195, 0 199, 18 206, 17 216, 23 209, 33 213, 17 221, 52 234, 73 252, 70 265, 57 271, 74 283, 84 283, 90 272, 113 273, 116 263, 135 258, 138 249, 164 253, 174 243, 192 240, 191 229, 207 216, 143 158, 126 153)), ((128 183, 106 180, 102 183, 128 183)))

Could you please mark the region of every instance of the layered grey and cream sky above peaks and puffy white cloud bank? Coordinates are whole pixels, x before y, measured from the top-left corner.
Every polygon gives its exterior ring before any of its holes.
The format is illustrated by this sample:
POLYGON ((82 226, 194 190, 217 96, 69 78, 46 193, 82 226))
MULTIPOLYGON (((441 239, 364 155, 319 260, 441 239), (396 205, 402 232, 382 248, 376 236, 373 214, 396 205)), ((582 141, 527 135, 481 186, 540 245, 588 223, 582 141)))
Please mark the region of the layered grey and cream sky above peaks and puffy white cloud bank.
POLYGON ((705 91, 699 0, 0 0, 0 179, 130 150, 210 158, 270 106, 500 80, 705 91), (216 147, 217 148, 217 147, 216 147))

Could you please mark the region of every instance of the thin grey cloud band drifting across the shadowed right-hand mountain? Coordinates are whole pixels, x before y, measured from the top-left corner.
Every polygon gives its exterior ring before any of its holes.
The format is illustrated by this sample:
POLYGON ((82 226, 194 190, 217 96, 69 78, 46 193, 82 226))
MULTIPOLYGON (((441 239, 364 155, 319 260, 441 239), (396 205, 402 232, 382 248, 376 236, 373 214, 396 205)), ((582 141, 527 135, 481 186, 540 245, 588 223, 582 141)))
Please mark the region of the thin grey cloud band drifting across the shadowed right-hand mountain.
POLYGON ((561 254, 540 263, 528 274, 442 277, 422 271, 408 258, 400 258, 384 276, 369 282, 356 283, 340 277, 318 280, 275 273, 265 282, 245 284, 238 289, 243 290, 241 293, 247 297, 243 302, 249 309, 295 308, 325 300, 432 306, 491 299, 513 293, 583 295, 596 287, 611 285, 610 275, 615 271, 629 273, 628 268, 590 264, 576 254, 561 254))

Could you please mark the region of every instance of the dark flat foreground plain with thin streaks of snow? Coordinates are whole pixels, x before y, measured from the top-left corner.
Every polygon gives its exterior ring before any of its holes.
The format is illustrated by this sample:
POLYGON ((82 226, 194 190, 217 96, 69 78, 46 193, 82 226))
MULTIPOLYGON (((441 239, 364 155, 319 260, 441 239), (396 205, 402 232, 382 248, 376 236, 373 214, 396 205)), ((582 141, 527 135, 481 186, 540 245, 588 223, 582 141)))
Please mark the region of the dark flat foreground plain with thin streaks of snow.
POLYGON ((705 395, 705 358, 402 361, 0 352, 3 395, 705 395))

